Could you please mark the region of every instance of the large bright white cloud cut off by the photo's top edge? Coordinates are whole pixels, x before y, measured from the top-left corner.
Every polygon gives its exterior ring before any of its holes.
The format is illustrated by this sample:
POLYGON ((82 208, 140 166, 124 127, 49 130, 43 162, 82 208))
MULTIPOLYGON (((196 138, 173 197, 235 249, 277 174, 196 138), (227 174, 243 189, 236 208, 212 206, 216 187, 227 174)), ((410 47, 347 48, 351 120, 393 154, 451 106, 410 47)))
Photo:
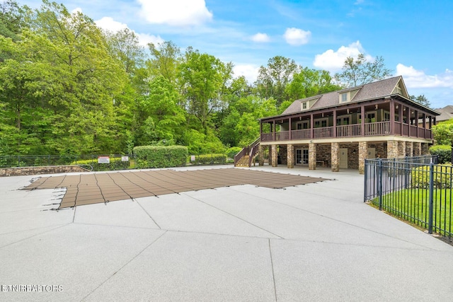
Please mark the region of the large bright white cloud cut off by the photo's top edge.
POLYGON ((142 16, 154 24, 173 26, 200 25, 212 20, 205 0, 138 0, 142 16))

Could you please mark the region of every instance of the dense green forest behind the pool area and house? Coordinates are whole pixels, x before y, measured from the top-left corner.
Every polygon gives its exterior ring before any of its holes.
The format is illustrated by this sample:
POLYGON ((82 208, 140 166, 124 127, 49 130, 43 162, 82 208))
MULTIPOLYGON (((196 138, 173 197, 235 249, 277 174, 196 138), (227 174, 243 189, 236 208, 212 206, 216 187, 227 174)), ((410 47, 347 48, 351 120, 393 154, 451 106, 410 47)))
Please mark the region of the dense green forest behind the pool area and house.
MULTIPOLYGON (((144 145, 224 153, 258 138, 258 118, 360 84, 336 81, 350 80, 346 71, 332 76, 282 56, 248 83, 231 62, 171 41, 143 47, 132 30, 102 30, 62 4, 0 6, 0 155, 131 153, 144 145)), ((390 75, 382 58, 374 64, 380 74, 372 80, 390 75)))

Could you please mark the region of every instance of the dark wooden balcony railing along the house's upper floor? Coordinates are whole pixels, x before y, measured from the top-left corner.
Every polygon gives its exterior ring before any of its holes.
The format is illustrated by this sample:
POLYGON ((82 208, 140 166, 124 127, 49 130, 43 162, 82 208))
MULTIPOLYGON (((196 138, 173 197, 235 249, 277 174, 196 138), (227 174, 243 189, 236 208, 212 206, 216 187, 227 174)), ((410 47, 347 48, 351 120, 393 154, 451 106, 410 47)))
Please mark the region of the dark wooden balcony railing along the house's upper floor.
MULTIPOLYGON (((363 131, 361 124, 347 124, 337 126, 336 133, 334 133, 333 127, 314 128, 313 131, 312 129, 292 130, 291 133, 289 133, 289 131, 276 132, 275 134, 262 133, 261 141, 289 141, 289 137, 294 141, 304 139, 330 139, 335 137, 384 136, 391 134, 390 126, 390 122, 371 122, 365 124, 363 131)), ((424 129, 404 123, 401 126, 401 122, 394 122, 394 134, 406 137, 419 137, 421 139, 432 139, 431 129, 424 129)))

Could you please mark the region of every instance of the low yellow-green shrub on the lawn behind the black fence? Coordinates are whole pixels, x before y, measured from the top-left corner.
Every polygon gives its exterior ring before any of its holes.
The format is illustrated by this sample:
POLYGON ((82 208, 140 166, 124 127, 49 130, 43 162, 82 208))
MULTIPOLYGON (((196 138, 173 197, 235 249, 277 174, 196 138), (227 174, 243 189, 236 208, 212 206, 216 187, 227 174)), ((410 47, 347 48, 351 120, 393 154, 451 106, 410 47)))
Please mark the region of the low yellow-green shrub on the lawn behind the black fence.
MULTIPOLYGON (((449 189, 452 187, 452 165, 434 165, 434 188, 449 189)), ((430 166, 424 165, 415 168, 411 172, 411 186, 418 189, 428 189, 430 187, 430 166)))

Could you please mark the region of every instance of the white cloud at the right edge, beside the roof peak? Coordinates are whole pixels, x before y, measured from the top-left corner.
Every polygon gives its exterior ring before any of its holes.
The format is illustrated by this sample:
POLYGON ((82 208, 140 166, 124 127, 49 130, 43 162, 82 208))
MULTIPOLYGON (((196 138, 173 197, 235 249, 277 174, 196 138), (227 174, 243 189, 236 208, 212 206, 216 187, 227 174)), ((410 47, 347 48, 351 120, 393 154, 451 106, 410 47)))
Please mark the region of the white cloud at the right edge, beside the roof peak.
POLYGON ((453 88, 453 71, 445 69, 442 74, 430 76, 413 66, 396 65, 396 76, 403 76, 408 88, 453 88))

